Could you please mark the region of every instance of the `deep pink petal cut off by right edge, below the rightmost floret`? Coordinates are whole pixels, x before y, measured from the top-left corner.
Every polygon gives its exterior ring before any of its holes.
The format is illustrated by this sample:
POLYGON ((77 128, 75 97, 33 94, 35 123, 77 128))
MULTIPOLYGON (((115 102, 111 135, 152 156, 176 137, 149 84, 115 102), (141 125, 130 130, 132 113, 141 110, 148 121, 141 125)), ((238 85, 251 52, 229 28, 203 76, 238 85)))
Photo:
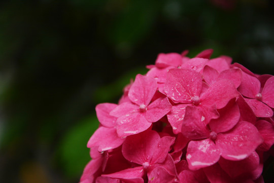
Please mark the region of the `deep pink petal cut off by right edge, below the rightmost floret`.
POLYGON ((258 150, 269 150, 274 144, 274 126, 265 120, 258 120, 255 127, 258 129, 264 140, 263 143, 259 145, 258 150))

